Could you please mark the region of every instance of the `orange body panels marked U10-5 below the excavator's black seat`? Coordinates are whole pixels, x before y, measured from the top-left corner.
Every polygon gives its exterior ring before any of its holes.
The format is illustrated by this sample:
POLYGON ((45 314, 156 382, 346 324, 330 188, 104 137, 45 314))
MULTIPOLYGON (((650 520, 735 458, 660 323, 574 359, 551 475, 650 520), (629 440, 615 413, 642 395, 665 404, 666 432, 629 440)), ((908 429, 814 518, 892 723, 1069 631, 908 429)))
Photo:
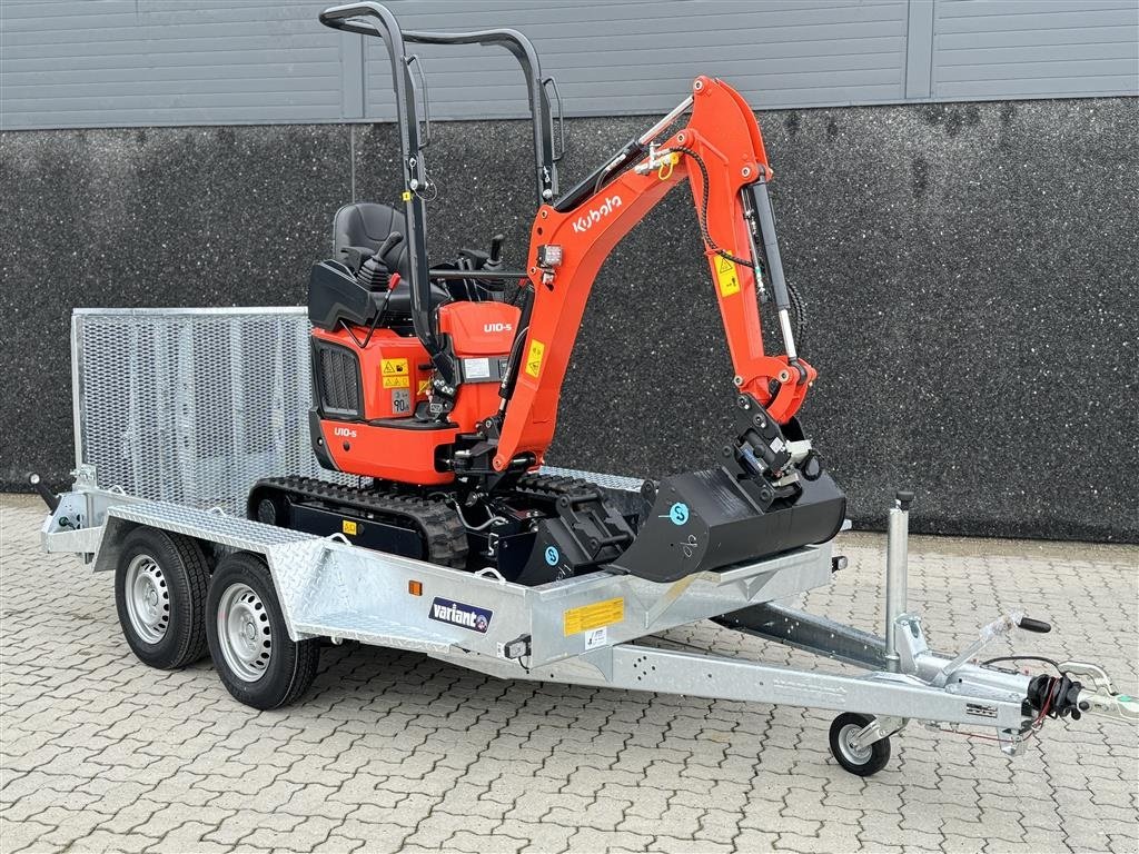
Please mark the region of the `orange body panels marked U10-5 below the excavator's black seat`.
POLYGON ((376 329, 361 347, 357 342, 368 338, 367 329, 313 329, 313 373, 322 412, 319 435, 313 436, 318 455, 339 471, 363 477, 423 485, 453 481, 436 461, 445 455, 444 445, 498 411, 499 383, 519 315, 506 303, 440 307, 439 330, 451 338, 462 384, 450 424, 428 429, 415 419, 416 407, 427 400, 432 373, 418 338, 376 329))

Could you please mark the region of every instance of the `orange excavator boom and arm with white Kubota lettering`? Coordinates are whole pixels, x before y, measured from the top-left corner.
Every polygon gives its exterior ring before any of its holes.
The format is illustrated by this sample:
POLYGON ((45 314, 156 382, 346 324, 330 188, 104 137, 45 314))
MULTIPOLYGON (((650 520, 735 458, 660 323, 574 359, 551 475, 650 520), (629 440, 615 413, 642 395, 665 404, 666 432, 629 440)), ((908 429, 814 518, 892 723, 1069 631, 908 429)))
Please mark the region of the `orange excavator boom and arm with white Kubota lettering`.
POLYGON ((613 248, 682 180, 691 184, 704 254, 735 367, 734 385, 744 413, 737 457, 747 468, 776 475, 800 462, 809 445, 797 425, 782 436, 817 372, 797 356, 788 319, 775 220, 767 194, 771 178, 763 138, 751 107, 727 83, 700 76, 693 96, 640 139, 630 142, 585 182, 556 203, 542 205, 531 229, 528 277, 532 310, 519 339, 513 387, 505 389, 501 435, 493 465, 540 463, 554 438, 558 399, 590 289, 613 248), (691 106, 688 124, 656 143, 691 106), (761 255, 759 247, 763 247, 761 255), (765 260, 765 263, 763 263, 765 260), (763 347, 757 288, 773 291, 785 353, 763 347), (757 419, 757 420, 756 420, 757 419), (761 424, 762 422, 762 424, 761 424), (752 429, 748 429, 752 428, 752 429), (798 441, 795 449, 786 449, 798 441), (772 442, 775 451, 771 450, 772 442), (763 459, 768 459, 764 465, 763 459))

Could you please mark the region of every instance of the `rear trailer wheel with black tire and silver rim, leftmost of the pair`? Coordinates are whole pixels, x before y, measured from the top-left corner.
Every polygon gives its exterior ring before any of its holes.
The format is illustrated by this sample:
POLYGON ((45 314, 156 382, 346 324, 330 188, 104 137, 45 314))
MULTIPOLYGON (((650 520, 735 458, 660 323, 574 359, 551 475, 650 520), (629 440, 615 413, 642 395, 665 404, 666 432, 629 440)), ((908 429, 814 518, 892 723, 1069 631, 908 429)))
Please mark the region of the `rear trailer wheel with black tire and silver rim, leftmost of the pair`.
POLYGON ((206 652, 210 563, 197 541, 140 526, 123 540, 115 567, 115 608, 142 664, 178 670, 206 652))

